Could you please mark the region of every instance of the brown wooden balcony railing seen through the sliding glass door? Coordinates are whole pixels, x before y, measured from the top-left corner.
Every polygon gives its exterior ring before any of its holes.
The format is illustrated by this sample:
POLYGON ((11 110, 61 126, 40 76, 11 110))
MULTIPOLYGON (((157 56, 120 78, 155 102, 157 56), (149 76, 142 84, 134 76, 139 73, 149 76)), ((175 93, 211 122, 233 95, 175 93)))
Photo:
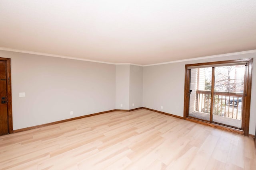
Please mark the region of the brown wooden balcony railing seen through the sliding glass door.
MULTIPOLYGON (((243 93, 214 92, 213 114, 242 119, 243 93)), ((210 113, 211 91, 196 90, 196 111, 210 113)))

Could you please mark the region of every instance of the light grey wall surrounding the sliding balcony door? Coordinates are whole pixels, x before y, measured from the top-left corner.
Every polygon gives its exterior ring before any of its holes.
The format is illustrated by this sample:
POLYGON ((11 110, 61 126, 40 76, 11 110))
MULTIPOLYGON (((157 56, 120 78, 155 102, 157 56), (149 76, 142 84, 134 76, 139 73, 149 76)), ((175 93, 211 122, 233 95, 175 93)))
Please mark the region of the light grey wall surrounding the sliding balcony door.
MULTIPOLYGON (((143 107, 164 111, 183 117, 185 64, 205 63, 233 59, 253 58, 256 66, 256 53, 216 57, 180 63, 144 66, 143 107), (163 106, 163 109, 160 108, 163 106)), ((255 134, 256 125, 256 69, 252 73, 252 97, 249 133, 255 134)))

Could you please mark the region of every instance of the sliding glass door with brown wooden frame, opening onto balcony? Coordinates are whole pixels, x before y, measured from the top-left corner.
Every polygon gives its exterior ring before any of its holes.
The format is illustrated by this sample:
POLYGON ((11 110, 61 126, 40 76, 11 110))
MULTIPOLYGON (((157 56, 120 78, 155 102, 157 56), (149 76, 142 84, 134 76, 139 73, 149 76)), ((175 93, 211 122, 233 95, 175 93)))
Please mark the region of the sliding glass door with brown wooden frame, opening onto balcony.
POLYGON ((247 131, 251 62, 186 65, 184 117, 247 131))

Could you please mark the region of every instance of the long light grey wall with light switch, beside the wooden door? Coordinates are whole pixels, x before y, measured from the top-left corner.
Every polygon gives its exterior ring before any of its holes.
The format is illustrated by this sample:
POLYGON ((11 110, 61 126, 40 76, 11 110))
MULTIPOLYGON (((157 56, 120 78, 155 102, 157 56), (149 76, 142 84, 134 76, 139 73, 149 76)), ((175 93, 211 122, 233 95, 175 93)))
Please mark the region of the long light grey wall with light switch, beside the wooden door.
POLYGON ((115 109, 113 64, 8 51, 0 57, 11 58, 14 130, 115 109))

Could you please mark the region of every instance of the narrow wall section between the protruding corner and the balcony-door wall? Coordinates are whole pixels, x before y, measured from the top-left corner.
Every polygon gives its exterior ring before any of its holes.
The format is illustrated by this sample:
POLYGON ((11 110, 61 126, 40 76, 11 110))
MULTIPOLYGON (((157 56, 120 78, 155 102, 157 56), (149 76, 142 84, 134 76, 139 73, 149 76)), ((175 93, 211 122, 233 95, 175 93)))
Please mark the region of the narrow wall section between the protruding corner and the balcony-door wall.
POLYGON ((130 65, 129 109, 142 107, 143 67, 130 65), (132 106, 134 104, 134 106, 132 106))

